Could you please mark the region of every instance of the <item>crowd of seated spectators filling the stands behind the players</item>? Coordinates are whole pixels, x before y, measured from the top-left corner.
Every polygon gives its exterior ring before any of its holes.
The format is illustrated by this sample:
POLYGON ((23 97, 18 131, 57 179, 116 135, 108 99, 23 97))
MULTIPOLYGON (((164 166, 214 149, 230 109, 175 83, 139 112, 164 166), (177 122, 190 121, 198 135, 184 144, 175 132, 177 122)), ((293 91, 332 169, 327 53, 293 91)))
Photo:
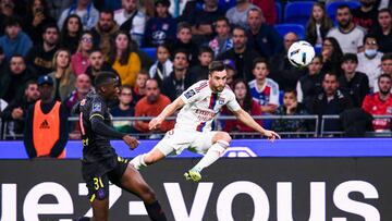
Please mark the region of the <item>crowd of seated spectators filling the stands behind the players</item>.
MULTIPOLYGON (((117 73, 123 85, 113 116, 155 116, 187 87, 208 78, 213 60, 224 62, 228 84, 252 115, 342 114, 341 121, 326 122, 324 130, 369 130, 370 122, 370 130, 391 131, 390 119, 369 114, 392 114, 392 2, 340 1, 331 14, 326 9, 335 1, 314 1, 305 23, 298 20, 304 33, 279 32, 287 21, 277 5, 293 2, 301 1, 0 0, 5 133, 13 138, 24 133, 29 106, 46 84, 61 110, 72 115, 101 71, 117 73), (286 56, 299 39, 317 49, 302 70, 286 56)), ((306 120, 258 122, 277 132, 315 131, 306 120)), ((148 121, 115 121, 114 126, 149 132, 148 121)), ((250 131, 230 120, 219 126, 250 131)), ((169 121, 160 132, 172 127, 169 121)), ((70 131, 71 138, 78 138, 77 126, 70 131)))

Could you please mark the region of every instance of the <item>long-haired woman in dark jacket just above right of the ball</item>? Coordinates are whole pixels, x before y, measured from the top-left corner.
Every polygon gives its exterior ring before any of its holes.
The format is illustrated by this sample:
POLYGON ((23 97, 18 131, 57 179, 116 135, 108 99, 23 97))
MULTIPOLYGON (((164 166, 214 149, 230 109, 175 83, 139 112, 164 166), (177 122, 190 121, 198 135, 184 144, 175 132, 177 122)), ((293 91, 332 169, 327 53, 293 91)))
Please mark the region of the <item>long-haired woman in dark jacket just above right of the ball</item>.
POLYGON ((306 24, 305 39, 313 46, 321 46, 332 26, 332 20, 328 16, 324 4, 315 2, 311 16, 306 24))

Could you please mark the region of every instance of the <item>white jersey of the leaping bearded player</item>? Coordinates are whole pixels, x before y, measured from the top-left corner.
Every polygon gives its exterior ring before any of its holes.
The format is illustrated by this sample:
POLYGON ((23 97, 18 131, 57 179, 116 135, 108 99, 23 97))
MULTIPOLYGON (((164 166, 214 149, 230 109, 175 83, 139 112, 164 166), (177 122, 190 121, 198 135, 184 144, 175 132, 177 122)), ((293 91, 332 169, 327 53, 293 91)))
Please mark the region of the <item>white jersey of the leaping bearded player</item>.
POLYGON ((213 130, 213 119, 224 105, 231 111, 241 109, 229 86, 221 93, 213 93, 206 79, 192 85, 180 98, 185 102, 175 122, 175 128, 180 130, 209 132, 213 130))

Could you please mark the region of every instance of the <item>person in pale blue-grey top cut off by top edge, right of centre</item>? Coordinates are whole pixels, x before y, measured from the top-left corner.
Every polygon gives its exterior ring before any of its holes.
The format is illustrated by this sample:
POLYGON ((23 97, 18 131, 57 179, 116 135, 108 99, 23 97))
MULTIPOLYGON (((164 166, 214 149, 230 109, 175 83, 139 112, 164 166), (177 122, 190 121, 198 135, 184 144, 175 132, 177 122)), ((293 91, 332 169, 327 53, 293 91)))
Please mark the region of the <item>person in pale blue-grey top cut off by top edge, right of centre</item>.
POLYGON ((229 19, 230 24, 247 28, 247 16, 250 9, 257 9, 257 7, 250 3, 249 0, 238 0, 235 7, 228 10, 225 16, 229 19))

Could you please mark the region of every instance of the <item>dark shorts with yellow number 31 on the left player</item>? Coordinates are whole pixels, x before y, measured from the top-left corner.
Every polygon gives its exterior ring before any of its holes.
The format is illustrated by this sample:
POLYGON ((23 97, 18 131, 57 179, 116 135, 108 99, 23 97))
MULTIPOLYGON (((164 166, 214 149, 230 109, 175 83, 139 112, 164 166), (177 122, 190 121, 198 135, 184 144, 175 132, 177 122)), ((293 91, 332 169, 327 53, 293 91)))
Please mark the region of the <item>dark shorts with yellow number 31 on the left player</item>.
MULTIPOLYGON (((121 177, 123 176, 128 162, 127 159, 113 157, 112 168, 110 170, 99 173, 83 174, 88 188, 88 198, 90 202, 96 199, 103 200, 109 197, 109 181, 121 187, 121 177)), ((101 165, 100 163, 88 164, 88 167, 94 165, 97 168, 107 168, 107 165, 101 165)))

